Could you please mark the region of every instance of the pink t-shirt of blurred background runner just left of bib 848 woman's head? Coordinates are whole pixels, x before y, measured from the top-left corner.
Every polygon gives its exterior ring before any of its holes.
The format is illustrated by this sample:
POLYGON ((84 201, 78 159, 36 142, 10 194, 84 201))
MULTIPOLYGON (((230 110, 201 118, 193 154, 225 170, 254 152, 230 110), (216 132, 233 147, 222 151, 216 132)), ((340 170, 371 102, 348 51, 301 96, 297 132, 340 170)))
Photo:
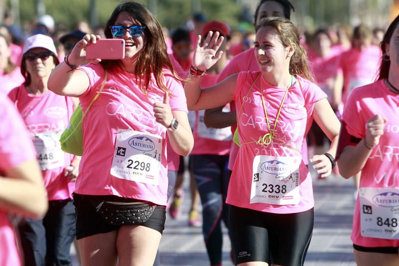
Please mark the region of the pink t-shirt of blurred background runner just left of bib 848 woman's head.
POLYGON ((381 49, 371 45, 364 50, 352 48, 341 54, 341 68, 344 74, 344 104, 354 88, 370 84, 376 80, 381 64, 381 49))

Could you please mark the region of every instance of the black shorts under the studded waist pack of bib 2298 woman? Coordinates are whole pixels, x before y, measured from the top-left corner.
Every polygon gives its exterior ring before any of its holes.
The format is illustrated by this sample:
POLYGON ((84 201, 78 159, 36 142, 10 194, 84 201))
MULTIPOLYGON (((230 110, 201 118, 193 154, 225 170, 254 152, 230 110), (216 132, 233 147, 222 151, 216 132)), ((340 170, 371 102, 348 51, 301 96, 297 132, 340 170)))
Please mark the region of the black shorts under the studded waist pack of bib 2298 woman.
MULTIPOLYGON (((106 201, 127 201, 130 199, 120 198, 117 196, 91 196, 73 194, 73 200, 75 205, 76 213, 76 239, 82 239, 97 234, 109 233, 115 230, 119 230, 119 226, 113 226, 104 221, 99 213, 96 212, 95 207, 89 202, 90 197, 100 197, 106 201)), ((166 221, 166 208, 165 206, 157 206, 151 215, 150 219, 147 220, 141 226, 145 226, 154 229, 161 234, 165 229, 166 221)))

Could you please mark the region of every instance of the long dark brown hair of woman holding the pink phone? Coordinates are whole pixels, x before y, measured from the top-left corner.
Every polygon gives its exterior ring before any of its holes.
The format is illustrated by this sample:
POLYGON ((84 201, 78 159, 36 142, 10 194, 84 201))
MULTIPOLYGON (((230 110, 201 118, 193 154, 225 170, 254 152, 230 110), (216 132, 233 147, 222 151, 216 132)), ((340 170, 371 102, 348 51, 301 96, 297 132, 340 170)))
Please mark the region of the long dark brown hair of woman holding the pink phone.
MULTIPOLYGON (((114 25, 118 15, 121 12, 128 12, 132 17, 137 19, 144 28, 144 47, 137 59, 135 66, 135 74, 139 79, 139 87, 147 94, 150 88, 151 74, 154 74, 156 83, 163 91, 168 91, 168 88, 163 82, 162 69, 165 67, 171 70, 173 76, 180 81, 181 79, 173 68, 172 62, 169 58, 164 35, 162 33, 162 26, 155 18, 155 16, 142 4, 137 2, 120 3, 112 12, 111 17, 105 25, 104 33, 107 38, 113 38, 111 33, 111 26, 114 25), (144 76, 142 78, 142 76, 144 76), (143 84, 144 83, 144 84, 143 84)), ((120 60, 103 60, 101 65, 105 69, 110 69, 119 65, 120 60)))

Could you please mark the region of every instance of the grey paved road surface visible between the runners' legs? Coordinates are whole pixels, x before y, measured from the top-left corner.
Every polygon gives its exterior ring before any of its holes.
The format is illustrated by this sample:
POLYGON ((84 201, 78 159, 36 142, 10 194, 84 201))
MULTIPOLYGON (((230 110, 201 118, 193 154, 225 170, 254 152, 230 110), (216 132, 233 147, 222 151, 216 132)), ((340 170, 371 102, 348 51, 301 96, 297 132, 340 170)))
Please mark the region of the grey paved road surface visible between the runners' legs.
MULTIPOLYGON (((186 181, 188 178, 186 177, 186 181)), ((189 182, 185 182, 188 184, 189 182)), ((178 219, 167 218, 160 245, 162 266, 208 266, 200 228, 188 226, 189 193, 178 219)), ((331 176, 313 182, 315 227, 305 266, 356 266, 350 240, 354 207, 353 181, 331 176)), ((223 266, 232 266, 224 230, 223 266)), ((74 253, 74 251, 73 251, 74 253)), ((74 266, 78 266, 74 256, 74 266)))

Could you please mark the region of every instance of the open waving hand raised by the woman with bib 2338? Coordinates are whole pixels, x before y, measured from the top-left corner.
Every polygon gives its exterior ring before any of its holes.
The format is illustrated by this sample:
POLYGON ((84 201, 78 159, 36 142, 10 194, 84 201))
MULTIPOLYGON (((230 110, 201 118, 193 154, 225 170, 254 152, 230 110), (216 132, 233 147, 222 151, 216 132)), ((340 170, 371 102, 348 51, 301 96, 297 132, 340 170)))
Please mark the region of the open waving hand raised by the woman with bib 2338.
POLYGON ((207 70, 220 59, 223 51, 217 51, 223 42, 224 37, 219 37, 219 32, 214 34, 209 31, 201 45, 201 35, 198 35, 197 47, 193 56, 193 66, 200 70, 207 70))

